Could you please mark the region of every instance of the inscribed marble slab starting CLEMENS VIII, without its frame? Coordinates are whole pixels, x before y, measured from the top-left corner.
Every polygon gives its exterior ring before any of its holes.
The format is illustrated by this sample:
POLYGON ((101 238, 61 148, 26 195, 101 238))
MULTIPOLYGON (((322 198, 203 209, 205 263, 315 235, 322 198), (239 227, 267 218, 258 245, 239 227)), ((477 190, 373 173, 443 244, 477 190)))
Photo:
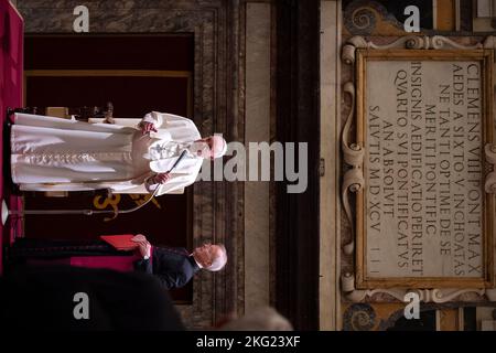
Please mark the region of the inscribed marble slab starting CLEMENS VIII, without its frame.
POLYGON ((364 278, 484 278, 483 62, 370 60, 364 76, 364 278))

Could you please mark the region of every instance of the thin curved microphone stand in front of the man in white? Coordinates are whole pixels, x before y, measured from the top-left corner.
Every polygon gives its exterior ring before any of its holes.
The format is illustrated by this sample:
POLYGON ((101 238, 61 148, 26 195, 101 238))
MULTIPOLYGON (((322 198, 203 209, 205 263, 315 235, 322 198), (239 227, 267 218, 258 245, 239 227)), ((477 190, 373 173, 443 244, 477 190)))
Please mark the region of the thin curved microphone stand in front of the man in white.
MULTIPOLYGON (((186 156, 186 150, 184 150, 181 153, 181 156, 177 158, 177 160, 174 162, 174 164, 168 171, 168 173, 170 173, 172 170, 174 170, 174 168, 184 158, 184 156, 186 156)), ((151 197, 148 199, 144 203, 142 203, 141 205, 134 206, 132 208, 129 208, 129 210, 112 210, 112 211, 111 210, 24 210, 24 211, 10 211, 9 207, 7 206, 6 201, 2 200, 2 210, 1 210, 2 225, 6 224, 9 216, 23 216, 26 214, 46 214, 46 215, 51 215, 51 214, 84 214, 87 216, 91 216, 94 214, 111 213, 111 214, 114 214, 115 217, 117 217, 119 214, 131 213, 131 212, 138 211, 141 207, 143 207, 144 205, 147 205, 157 195, 157 193, 159 192, 159 189, 160 189, 160 185, 155 188, 151 197)))

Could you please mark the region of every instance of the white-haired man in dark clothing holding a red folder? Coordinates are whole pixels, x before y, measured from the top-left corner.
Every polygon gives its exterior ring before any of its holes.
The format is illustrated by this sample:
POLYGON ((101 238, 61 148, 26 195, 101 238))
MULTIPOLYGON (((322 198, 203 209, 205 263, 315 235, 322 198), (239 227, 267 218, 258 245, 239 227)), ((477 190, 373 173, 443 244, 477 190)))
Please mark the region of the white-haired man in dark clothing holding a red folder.
POLYGON ((136 252, 116 250, 101 240, 18 239, 7 252, 7 270, 22 265, 68 265, 140 271, 154 275, 166 289, 183 287, 200 270, 218 271, 227 263, 222 244, 204 244, 191 254, 184 248, 151 246, 144 235, 132 238, 136 252))

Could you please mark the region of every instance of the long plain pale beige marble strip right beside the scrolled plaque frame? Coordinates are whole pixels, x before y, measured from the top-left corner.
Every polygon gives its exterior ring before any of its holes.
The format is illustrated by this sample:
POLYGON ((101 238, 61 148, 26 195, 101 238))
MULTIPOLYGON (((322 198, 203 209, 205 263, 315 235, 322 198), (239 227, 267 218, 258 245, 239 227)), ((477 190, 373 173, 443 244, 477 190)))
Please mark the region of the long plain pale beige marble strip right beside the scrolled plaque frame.
POLYGON ((339 328, 339 116, 341 1, 321 1, 321 178, 320 328, 339 328))

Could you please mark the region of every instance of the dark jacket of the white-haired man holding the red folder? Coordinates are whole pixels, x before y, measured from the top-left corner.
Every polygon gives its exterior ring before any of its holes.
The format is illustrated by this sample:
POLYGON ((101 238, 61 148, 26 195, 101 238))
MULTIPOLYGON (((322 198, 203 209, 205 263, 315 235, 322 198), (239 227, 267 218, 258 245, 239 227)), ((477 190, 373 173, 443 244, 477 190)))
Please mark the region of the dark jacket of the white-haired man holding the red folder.
POLYGON ((186 249, 154 246, 152 252, 151 261, 140 259, 134 263, 134 269, 157 276, 166 289, 183 287, 200 270, 186 249))

